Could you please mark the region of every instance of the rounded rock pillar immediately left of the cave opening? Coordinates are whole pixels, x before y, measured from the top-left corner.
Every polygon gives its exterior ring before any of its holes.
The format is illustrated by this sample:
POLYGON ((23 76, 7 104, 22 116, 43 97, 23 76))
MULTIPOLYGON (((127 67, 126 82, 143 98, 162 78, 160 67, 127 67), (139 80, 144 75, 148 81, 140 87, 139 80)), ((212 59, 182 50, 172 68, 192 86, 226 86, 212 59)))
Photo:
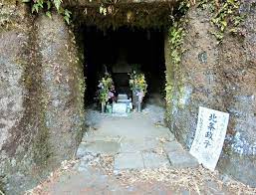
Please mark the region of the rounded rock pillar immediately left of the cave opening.
POLYGON ((42 66, 42 100, 53 161, 70 158, 79 144, 83 127, 84 77, 75 37, 62 16, 41 16, 37 45, 42 66))

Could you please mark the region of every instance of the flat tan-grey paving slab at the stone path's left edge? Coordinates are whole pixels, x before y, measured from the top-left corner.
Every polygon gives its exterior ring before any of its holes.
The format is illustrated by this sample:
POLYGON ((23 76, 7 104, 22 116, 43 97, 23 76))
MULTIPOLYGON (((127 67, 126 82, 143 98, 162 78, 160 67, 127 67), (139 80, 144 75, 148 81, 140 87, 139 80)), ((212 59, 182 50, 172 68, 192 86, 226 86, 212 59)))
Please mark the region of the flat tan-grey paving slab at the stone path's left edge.
POLYGON ((116 154, 120 151, 120 143, 116 141, 96 140, 94 142, 81 144, 78 149, 79 154, 83 152, 100 153, 100 154, 116 154))

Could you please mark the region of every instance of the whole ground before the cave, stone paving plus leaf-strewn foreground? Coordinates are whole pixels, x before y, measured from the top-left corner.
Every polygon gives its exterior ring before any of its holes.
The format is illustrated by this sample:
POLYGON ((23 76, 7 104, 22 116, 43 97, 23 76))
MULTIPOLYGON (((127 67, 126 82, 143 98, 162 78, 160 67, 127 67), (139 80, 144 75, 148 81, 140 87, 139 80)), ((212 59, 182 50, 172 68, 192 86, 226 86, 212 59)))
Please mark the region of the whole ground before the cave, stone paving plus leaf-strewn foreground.
POLYGON ((77 160, 64 162, 26 194, 255 194, 227 176, 198 166, 162 125, 157 106, 127 117, 90 110, 77 160), (187 168, 191 167, 191 168, 187 168))

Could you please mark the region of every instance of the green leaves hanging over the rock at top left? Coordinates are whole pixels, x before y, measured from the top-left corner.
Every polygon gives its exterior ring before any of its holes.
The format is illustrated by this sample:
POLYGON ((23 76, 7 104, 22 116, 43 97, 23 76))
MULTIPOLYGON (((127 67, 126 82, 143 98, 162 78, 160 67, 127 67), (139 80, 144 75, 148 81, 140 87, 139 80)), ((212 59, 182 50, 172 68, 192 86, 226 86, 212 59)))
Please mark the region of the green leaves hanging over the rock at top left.
POLYGON ((44 10, 45 14, 52 18, 52 10, 56 9, 59 14, 63 15, 64 20, 70 24, 71 12, 68 9, 62 7, 63 0, 22 0, 24 3, 32 4, 32 13, 39 13, 40 10, 44 10))

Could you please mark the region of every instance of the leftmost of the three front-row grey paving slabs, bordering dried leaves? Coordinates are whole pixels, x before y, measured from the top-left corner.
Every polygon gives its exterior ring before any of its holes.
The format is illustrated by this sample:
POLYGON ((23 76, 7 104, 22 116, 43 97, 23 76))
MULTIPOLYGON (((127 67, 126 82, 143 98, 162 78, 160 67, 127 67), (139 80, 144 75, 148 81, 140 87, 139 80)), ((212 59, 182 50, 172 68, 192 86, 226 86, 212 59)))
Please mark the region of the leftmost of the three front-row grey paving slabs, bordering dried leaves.
POLYGON ((115 156, 114 170, 143 169, 143 159, 140 153, 120 153, 115 156))

